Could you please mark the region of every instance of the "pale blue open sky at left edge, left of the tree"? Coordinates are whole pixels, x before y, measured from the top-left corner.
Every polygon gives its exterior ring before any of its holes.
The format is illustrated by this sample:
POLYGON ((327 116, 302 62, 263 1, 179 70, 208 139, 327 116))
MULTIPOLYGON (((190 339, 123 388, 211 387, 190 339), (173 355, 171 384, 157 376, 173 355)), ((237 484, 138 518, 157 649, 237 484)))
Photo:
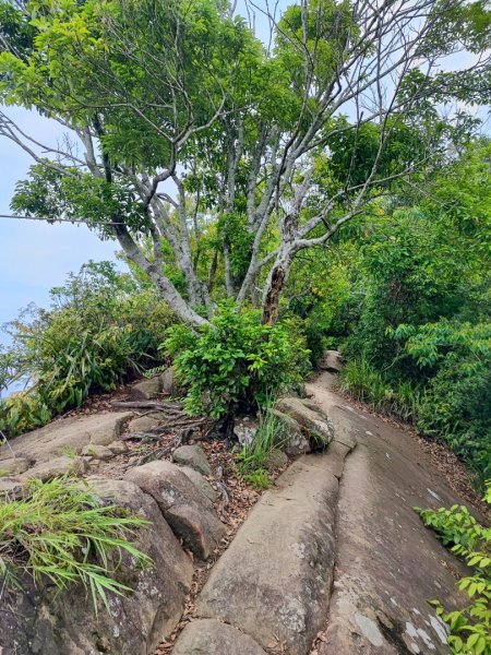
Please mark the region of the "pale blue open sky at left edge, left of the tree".
MULTIPOLYGON (((36 140, 55 145, 62 128, 35 111, 2 108, 36 140)), ((29 155, 0 139, 0 214, 9 209, 15 183, 26 177, 29 155)), ((0 324, 11 321, 29 302, 49 305, 49 289, 89 259, 115 260, 117 243, 100 241, 84 225, 36 223, 0 218, 0 324)), ((0 343, 7 337, 0 332, 0 343)))

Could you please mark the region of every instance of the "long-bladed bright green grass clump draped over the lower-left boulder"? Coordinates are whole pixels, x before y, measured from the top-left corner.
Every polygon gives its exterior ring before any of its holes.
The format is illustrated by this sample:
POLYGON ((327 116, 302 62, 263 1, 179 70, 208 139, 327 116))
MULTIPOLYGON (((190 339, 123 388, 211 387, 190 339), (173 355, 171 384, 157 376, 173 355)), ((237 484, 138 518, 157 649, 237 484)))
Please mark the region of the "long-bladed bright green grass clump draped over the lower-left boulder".
POLYGON ((25 498, 0 503, 0 576, 15 581, 26 572, 49 579, 58 590, 81 582, 95 610, 98 600, 109 610, 106 592, 130 591, 115 577, 118 564, 111 562, 128 552, 139 567, 151 565, 128 541, 144 525, 148 522, 140 516, 104 505, 80 480, 32 481, 25 498))

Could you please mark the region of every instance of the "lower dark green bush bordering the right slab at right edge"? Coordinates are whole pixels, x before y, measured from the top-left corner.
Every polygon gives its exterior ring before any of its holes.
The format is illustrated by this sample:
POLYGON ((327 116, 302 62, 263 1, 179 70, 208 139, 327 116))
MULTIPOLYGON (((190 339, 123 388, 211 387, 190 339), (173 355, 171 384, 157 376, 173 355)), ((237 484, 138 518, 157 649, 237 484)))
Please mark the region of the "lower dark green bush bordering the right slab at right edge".
POLYGON ((491 476, 491 323, 441 320, 400 325, 396 338, 420 367, 431 367, 418 428, 442 437, 481 479, 491 476))

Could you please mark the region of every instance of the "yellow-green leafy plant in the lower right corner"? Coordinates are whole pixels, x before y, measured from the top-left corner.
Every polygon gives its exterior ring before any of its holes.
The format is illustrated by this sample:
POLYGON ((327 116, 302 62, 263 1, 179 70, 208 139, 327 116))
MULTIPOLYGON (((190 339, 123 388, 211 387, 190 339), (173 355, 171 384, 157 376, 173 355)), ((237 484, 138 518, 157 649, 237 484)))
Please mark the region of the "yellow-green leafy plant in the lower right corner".
MULTIPOLYGON (((486 502, 491 504, 491 480, 486 502)), ((489 655, 491 653, 491 528, 483 527, 465 507, 453 505, 438 511, 416 508, 424 525, 434 529, 445 546, 463 557, 474 570, 459 581, 458 587, 469 604, 446 611, 439 600, 432 602, 436 614, 450 627, 448 645, 454 655, 489 655)))

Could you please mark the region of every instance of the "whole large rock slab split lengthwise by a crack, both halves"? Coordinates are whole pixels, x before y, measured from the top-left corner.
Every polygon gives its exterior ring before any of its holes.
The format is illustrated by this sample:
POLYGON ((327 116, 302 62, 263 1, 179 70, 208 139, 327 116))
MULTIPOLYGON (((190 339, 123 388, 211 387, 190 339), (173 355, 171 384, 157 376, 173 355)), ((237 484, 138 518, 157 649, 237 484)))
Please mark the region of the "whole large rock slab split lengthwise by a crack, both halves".
MULTIPOLYGON (((458 499, 417 442, 336 395, 333 379, 309 384, 302 407, 279 403, 294 420, 330 417, 335 437, 254 507, 199 595, 197 616, 286 655, 307 655, 318 634, 319 655, 448 654, 428 600, 462 607, 465 570, 412 508, 458 499)), ((194 652, 191 636, 183 643, 183 654, 194 652)))

